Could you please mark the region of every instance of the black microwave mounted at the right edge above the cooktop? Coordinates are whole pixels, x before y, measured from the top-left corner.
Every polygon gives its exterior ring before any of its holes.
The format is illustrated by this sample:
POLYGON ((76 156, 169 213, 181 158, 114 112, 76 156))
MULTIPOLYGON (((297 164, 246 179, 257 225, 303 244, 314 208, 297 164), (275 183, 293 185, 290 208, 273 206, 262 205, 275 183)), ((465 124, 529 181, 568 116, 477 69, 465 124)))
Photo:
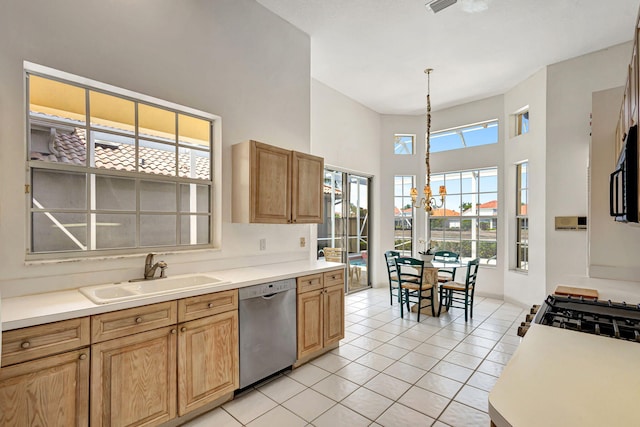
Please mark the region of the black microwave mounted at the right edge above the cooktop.
POLYGON ((609 214, 616 221, 638 222, 638 125, 629 128, 609 177, 609 214))

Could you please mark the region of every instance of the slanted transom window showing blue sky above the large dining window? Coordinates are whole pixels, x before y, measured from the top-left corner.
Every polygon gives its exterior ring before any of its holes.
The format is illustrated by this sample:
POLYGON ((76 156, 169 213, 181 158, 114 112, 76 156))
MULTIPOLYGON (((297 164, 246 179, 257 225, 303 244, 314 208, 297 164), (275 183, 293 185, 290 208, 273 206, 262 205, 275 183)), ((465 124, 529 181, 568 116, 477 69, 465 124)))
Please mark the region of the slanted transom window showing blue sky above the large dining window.
POLYGON ((430 151, 456 150, 498 142, 498 121, 474 123, 472 125, 431 132, 430 151))

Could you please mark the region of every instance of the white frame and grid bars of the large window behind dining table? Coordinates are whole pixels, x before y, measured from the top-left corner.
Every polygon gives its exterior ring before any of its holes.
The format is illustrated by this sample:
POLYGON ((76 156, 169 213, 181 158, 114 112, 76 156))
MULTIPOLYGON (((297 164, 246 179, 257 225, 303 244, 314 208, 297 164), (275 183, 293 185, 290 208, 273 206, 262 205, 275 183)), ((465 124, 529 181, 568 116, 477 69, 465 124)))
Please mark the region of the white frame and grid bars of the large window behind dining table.
MULTIPOLYGON (((456 181, 455 175, 459 176, 459 182, 460 182, 460 188, 459 189, 453 189, 450 187, 447 187, 447 197, 445 198, 445 204, 443 207, 440 207, 439 209, 442 210, 443 215, 433 215, 433 214, 426 214, 427 215, 427 236, 428 236, 428 240, 431 242, 432 245, 435 245, 436 250, 453 250, 455 252, 458 252, 460 254, 460 258, 461 259, 465 259, 465 260, 469 260, 469 259, 474 259, 476 257, 480 258, 481 260, 481 265, 483 266, 490 266, 490 267, 496 267, 498 265, 498 229, 500 227, 499 225, 499 219, 500 219, 500 215, 498 212, 499 206, 500 206, 500 200, 499 200, 499 168, 498 166, 492 166, 492 167, 484 167, 484 168, 474 168, 474 169, 467 169, 467 170, 461 170, 461 171, 449 171, 449 172, 442 172, 442 173, 437 173, 437 174, 431 174, 431 182, 433 185, 433 182, 435 181, 439 181, 441 180, 445 186, 447 186, 447 182, 452 180, 452 181, 456 181), (484 191, 482 187, 478 187, 478 185, 482 185, 481 184, 481 177, 482 177, 482 172, 483 171, 490 171, 492 173, 492 175, 495 175, 495 180, 496 180, 496 185, 495 185, 495 189, 491 190, 491 191, 484 191), (464 191, 464 184, 463 184, 463 175, 467 174, 467 173, 476 173, 478 174, 479 179, 477 180, 478 182, 475 184, 475 188, 473 189, 473 191, 464 191), (483 194, 495 194, 496 197, 496 208, 495 208, 495 215, 481 215, 480 211, 478 209, 478 206, 480 205, 479 199, 481 197, 481 195, 483 194), (473 206, 471 206, 472 209, 475 209, 475 213, 470 214, 470 215, 463 215, 463 210, 462 207, 460 207, 460 215, 447 215, 447 211, 449 209, 445 209, 447 206, 447 199, 451 200, 453 197, 459 196, 459 200, 463 200, 465 197, 464 196, 471 196, 471 198, 474 198, 474 195, 477 197, 476 199, 476 208, 473 208, 473 206), (442 245, 440 245, 438 242, 438 238, 433 236, 433 229, 432 229, 432 221, 442 221, 443 225, 444 223, 446 223, 448 220, 451 219, 458 219, 458 235, 459 235, 459 239, 457 240, 457 242, 459 243, 460 248, 462 247, 462 243, 469 241, 471 242, 471 257, 466 257, 464 256, 464 254, 462 253, 462 251, 460 250, 455 250, 455 248, 451 248, 448 247, 448 245, 444 245, 445 247, 442 247, 442 245), (462 223, 465 221, 471 221, 472 225, 470 228, 471 230, 471 237, 470 239, 463 239, 463 227, 462 227, 462 223), (473 229, 475 227, 475 229, 480 230, 481 229, 481 223, 486 223, 487 221, 489 221, 490 223, 494 223, 495 224, 495 239, 491 239, 491 240, 487 240, 487 239, 481 239, 480 234, 478 233, 478 235, 476 236, 475 239, 473 239, 473 229), (494 258, 494 257, 490 257, 490 258, 482 258, 479 255, 479 251, 480 251, 480 243, 481 242, 490 242, 490 243, 494 243, 496 250, 495 250, 495 262, 490 263, 490 261, 494 258), (484 262, 483 262, 484 261, 484 262)), ((438 203, 440 202, 439 198, 436 196, 436 199, 438 201, 438 203)), ((436 209, 436 212, 438 211, 438 209, 436 209)), ((455 227, 454 227, 455 228, 455 227)), ((443 228, 443 235, 444 235, 444 242, 454 242, 454 240, 448 239, 447 238, 447 234, 453 234, 454 231, 450 230, 448 233, 446 232, 446 230, 443 228)))

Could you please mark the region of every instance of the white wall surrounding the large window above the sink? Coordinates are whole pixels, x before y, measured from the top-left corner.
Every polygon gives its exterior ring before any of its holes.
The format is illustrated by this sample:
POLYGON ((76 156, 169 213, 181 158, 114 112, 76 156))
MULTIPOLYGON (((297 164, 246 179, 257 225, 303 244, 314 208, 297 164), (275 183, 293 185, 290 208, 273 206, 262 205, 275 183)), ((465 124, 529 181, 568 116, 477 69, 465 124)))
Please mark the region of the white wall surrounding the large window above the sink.
MULTIPOLYGON (((310 151, 310 40, 253 0, 3 0, 0 13, 0 289, 3 297, 127 280, 144 256, 25 264, 23 61, 222 117, 222 249, 166 254, 168 273, 306 259, 311 225, 231 221, 231 145, 310 151), (260 252, 258 241, 267 239, 260 252)), ((309 245, 313 246, 313 245, 309 245)))

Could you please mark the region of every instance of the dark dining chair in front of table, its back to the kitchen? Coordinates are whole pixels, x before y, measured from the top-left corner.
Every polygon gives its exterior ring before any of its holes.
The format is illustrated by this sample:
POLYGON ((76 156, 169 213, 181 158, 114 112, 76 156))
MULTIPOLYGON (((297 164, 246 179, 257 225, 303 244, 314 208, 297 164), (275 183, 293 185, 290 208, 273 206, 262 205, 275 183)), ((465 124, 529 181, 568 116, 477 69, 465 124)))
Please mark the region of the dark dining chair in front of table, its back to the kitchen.
POLYGON ((431 314, 435 317, 435 287, 423 281, 424 261, 421 259, 398 257, 396 261, 396 272, 400 285, 400 317, 404 318, 403 305, 407 305, 407 310, 411 310, 409 303, 413 298, 418 304, 418 322, 420 321, 420 311, 431 305, 431 314), (425 292, 429 294, 425 296, 425 292), (422 301, 429 300, 430 304, 423 306, 422 301))

